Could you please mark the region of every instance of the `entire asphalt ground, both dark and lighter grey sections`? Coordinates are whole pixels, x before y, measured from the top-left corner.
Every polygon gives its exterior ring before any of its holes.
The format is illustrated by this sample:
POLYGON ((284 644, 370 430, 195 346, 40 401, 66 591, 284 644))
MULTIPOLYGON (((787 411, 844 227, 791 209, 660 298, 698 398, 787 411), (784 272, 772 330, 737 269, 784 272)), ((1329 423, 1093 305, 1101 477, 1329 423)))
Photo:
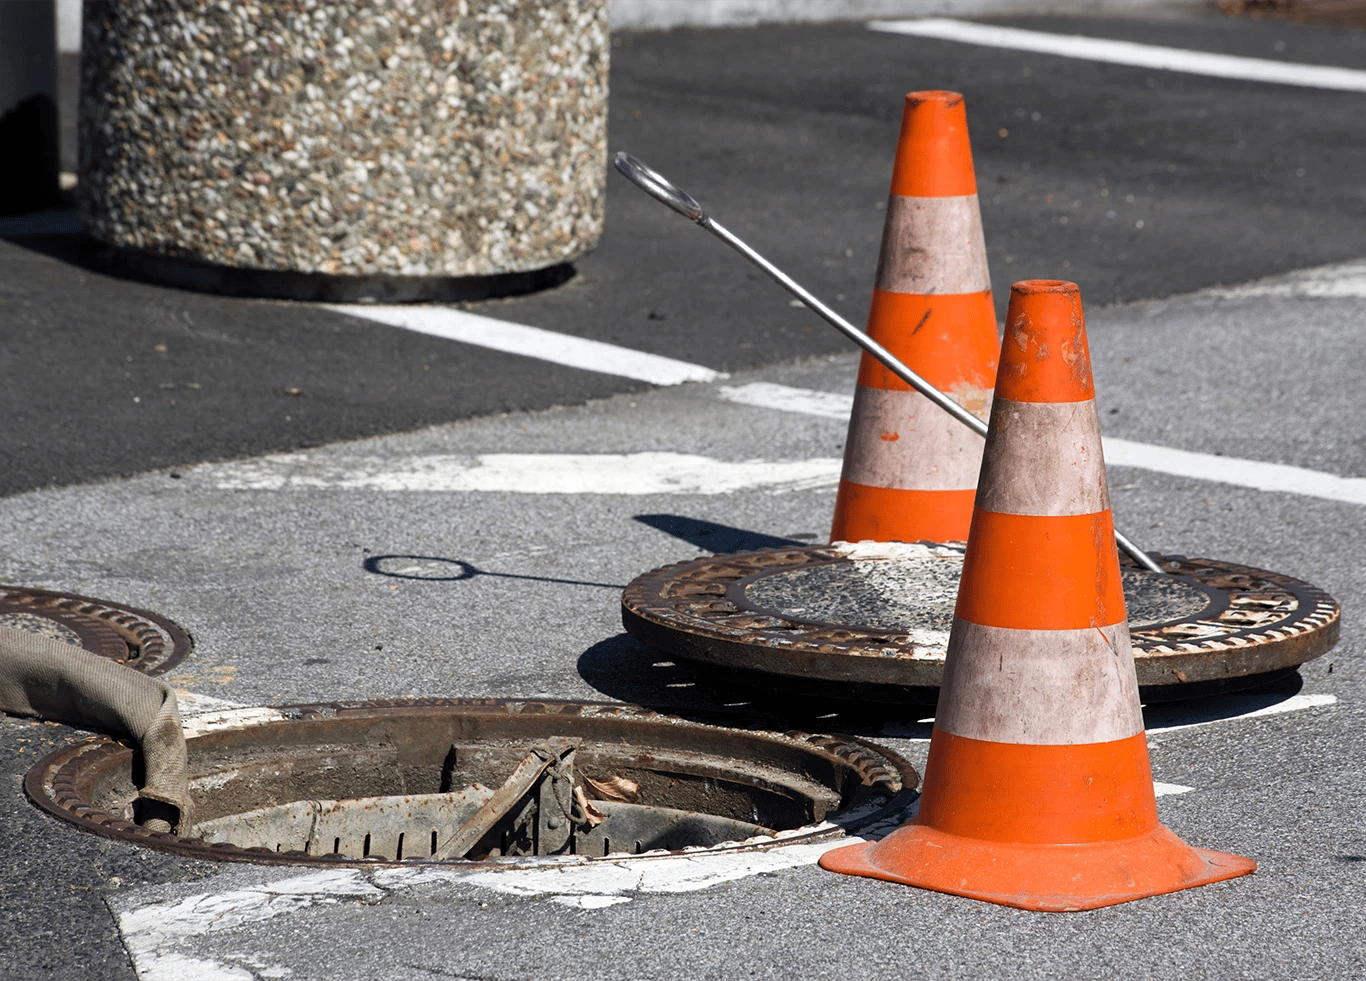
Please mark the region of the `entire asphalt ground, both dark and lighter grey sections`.
MULTIPOLYGON (((1366 68, 1359 30, 1009 23, 1366 68)), ((615 879, 309 877, 55 823, 20 780, 81 734, 0 719, 0 976, 1366 973, 1366 94, 859 25, 615 41, 612 148, 855 321, 902 94, 966 94, 997 299, 1016 279, 1081 283, 1105 436, 1152 448, 1112 458, 1116 523, 1153 551, 1299 577, 1344 608, 1339 646, 1291 686, 1149 713, 1162 821, 1259 870, 1056 915, 837 877, 781 848, 749 865, 634 859, 615 879)), ((87 268, 79 234, 0 225, 0 581, 184 624, 195 650, 168 680, 187 713, 418 695, 729 702, 740 724, 852 731, 923 766, 915 717, 736 700, 622 633, 620 588, 649 568, 824 540, 844 422, 820 406, 847 398, 856 358, 724 246, 616 176, 608 189, 607 234, 574 280, 469 310, 729 377, 656 388, 316 306, 128 283, 87 268), (781 387, 788 407, 746 402, 775 391, 754 385, 781 387), (579 467, 579 492, 546 488, 552 466, 579 467), (474 571, 395 578, 372 562, 387 555, 474 571)))

